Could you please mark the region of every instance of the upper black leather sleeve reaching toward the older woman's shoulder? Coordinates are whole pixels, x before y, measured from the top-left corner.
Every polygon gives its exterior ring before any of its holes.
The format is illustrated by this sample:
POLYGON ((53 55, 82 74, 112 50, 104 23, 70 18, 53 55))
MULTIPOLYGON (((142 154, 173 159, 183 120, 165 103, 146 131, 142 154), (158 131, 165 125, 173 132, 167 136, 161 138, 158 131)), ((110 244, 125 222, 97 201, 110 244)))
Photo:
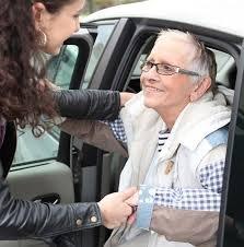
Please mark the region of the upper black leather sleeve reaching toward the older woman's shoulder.
POLYGON ((118 91, 61 90, 54 96, 62 117, 114 120, 120 109, 118 91))

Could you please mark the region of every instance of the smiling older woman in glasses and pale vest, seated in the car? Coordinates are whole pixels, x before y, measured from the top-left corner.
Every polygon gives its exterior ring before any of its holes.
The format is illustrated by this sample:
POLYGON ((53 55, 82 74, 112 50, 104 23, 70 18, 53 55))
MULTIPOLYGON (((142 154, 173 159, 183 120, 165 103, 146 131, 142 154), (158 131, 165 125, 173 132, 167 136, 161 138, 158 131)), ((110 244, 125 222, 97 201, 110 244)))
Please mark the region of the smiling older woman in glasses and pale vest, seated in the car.
MULTIPOLYGON (((120 111, 129 158, 119 190, 139 187, 139 198, 129 201, 138 207, 137 220, 115 230, 106 247, 214 246, 231 116, 214 90, 216 69, 213 54, 191 34, 159 35, 141 67, 142 92, 120 111)), ((81 125, 63 128, 97 142, 102 124, 81 125)), ((118 139, 115 127, 104 125, 100 140, 109 128, 118 139)))

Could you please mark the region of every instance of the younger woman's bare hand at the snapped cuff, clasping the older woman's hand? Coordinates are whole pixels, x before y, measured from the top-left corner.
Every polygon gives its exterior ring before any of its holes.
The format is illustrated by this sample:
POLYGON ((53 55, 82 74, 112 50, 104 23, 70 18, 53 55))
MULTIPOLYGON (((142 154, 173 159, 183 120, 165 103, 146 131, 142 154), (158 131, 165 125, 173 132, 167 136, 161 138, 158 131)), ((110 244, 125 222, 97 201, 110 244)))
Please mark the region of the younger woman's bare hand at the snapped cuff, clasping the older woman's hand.
POLYGON ((126 203, 126 200, 136 191, 137 189, 132 187, 121 192, 109 193, 97 203, 104 226, 115 228, 127 222, 128 216, 132 213, 132 208, 126 203))

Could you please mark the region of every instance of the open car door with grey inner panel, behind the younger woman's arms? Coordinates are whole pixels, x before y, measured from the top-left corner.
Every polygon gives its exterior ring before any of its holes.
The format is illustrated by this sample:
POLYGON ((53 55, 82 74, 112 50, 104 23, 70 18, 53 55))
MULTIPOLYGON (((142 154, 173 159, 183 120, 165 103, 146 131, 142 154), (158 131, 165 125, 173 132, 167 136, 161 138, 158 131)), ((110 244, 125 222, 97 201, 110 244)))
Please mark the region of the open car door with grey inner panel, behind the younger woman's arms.
MULTIPOLYGON (((82 27, 63 44, 58 56, 46 56, 47 78, 62 89, 80 89, 95 38, 95 26, 82 27)), ((18 130, 18 150, 8 176, 12 196, 40 203, 74 202, 69 141, 70 137, 57 127, 38 139, 28 128, 18 130)), ((21 246, 48 245, 31 239, 0 242, 0 247, 21 246)))

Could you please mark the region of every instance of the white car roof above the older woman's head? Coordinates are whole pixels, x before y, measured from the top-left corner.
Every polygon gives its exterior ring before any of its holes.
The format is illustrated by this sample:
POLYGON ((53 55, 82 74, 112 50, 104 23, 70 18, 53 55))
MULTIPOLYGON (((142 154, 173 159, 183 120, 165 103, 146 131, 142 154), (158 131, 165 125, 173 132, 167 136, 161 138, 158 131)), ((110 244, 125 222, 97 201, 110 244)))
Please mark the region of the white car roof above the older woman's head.
POLYGON ((83 21, 118 17, 159 19, 244 37, 243 0, 148 0, 97 11, 83 21))

